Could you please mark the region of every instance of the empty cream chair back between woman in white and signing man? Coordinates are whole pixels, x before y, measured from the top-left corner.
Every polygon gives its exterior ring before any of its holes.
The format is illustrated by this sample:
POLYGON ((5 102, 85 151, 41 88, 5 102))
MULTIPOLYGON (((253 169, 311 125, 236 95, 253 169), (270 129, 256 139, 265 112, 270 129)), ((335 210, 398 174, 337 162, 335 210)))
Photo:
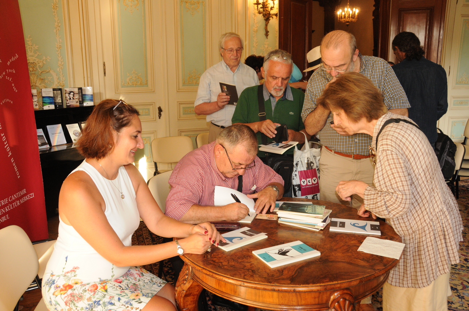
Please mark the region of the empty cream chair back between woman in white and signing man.
POLYGON ((157 163, 177 163, 192 150, 194 150, 194 144, 188 136, 155 138, 151 141, 151 155, 155 163, 154 175, 167 171, 158 170, 157 163))

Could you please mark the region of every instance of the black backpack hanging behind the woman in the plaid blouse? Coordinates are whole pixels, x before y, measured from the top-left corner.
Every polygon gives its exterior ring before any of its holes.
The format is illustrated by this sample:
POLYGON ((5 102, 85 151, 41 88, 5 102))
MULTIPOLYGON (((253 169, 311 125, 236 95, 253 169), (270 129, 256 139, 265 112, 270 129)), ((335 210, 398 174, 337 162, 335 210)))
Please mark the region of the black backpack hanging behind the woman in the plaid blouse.
POLYGON ((437 130, 439 133, 435 142, 435 154, 437 155, 443 177, 450 179, 453 177, 454 168, 456 167, 454 155, 456 154, 457 147, 448 135, 445 135, 439 128, 437 130))

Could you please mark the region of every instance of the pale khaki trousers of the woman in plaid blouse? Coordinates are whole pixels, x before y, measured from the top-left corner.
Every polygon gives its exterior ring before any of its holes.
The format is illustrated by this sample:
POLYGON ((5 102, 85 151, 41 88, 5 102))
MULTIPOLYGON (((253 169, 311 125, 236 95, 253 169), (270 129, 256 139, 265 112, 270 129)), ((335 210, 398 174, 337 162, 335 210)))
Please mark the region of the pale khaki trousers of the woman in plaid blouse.
POLYGON ((383 311, 447 311, 448 296, 451 296, 449 273, 440 275, 421 289, 397 287, 385 282, 383 311))

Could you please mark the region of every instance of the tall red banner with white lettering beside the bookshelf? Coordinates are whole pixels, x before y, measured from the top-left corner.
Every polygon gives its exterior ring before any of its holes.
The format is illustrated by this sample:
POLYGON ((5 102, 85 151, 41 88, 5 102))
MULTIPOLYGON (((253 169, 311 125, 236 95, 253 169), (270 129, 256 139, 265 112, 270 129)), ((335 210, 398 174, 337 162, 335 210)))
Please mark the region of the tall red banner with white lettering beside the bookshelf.
POLYGON ((0 0, 0 229, 48 238, 23 25, 17 0, 0 0))

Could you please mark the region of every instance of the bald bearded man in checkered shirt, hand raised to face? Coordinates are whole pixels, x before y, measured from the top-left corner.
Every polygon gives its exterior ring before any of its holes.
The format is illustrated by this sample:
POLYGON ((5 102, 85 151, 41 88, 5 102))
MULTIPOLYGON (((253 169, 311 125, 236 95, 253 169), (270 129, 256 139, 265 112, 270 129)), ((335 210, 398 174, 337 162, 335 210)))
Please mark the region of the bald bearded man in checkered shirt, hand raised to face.
MULTIPOLYGON (((332 124, 331 111, 317 107, 316 99, 322 95, 327 83, 334 81, 341 73, 355 71, 370 79, 381 91, 390 112, 408 116, 410 105, 386 60, 360 54, 355 37, 346 31, 334 30, 325 35, 321 41, 321 61, 322 66, 308 81, 302 118, 310 135, 320 131, 319 139, 325 146, 319 160, 320 199, 350 205, 349 201, 340 200, 335 188, 341 180, 358 179, 373 184, 374 168, 369 154, 371 136, 364 133, 340 135, 345 133, 332 124)), ((354 195, 351 203, 358 209, 363 199, 354 195)))

